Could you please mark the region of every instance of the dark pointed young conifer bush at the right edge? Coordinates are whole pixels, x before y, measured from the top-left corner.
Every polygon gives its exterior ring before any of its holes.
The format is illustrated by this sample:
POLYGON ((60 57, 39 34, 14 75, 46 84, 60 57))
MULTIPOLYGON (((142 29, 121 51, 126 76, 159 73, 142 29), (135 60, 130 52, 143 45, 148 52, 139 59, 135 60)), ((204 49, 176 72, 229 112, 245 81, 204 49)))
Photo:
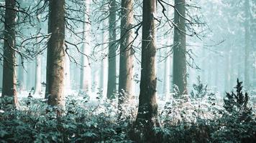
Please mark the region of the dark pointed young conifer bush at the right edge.
POLYGON ((219 129, 211 137, 213 142, 256 142, 255 114, 248 107, 249 95, 242 92, 242 82, 237 79, 236 93, 224 98, 224 114, 218 119, 219 129))

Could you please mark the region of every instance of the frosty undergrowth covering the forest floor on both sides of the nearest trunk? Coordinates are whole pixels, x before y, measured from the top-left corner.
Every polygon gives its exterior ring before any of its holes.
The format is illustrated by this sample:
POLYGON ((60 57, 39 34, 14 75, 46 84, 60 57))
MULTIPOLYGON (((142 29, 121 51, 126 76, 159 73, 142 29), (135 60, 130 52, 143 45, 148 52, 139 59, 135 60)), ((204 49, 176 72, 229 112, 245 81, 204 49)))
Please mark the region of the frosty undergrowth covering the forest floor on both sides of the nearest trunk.
MULTIPOLYGON (((250 97, 238 80, 235 89, 222 105, 198 78, 190 95, 173 96, 160 106, 157 142, 255 142, 250 97)), ((66 97, 61 117, 49 112, 45 99, 19 99, 19 108, 7 112, 8 101, 0 98, 0 142, 132 142, 134 100, 122 105, 120 116, 116 99, 104 99, 99 92, 94 101, 81 92, 66 97)))

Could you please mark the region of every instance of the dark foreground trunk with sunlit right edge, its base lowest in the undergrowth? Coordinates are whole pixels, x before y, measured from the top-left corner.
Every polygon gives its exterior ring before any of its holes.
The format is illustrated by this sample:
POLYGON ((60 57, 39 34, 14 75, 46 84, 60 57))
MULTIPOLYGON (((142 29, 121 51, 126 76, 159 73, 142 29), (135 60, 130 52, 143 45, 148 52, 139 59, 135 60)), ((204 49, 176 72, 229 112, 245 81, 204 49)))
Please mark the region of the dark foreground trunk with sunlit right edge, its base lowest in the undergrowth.
MULTIPOLYGON (((157 117, 157 78, 155 75, 155 54, 156 54, 156 1, 143 1, 142 14, 142 60, 140 78, 140 97, 136 128, 139 134, 143 134, 143 142, 156 142, 153 127, 160 126, 157 117)), ((137 134, 137 132, 135 132, 137 134)), ((140 138, 142 139, 142 138, 140 138)))

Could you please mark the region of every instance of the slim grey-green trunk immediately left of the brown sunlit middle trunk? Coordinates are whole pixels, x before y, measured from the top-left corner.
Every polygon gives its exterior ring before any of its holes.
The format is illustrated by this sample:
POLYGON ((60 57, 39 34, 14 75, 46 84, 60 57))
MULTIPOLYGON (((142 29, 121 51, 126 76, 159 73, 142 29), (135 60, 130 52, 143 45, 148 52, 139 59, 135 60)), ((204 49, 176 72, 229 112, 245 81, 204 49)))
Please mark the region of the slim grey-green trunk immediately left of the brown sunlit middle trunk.
POLYGON ((109 0, 109 71, 106 97, 114 99, 116 94, 116 0, 109 0))

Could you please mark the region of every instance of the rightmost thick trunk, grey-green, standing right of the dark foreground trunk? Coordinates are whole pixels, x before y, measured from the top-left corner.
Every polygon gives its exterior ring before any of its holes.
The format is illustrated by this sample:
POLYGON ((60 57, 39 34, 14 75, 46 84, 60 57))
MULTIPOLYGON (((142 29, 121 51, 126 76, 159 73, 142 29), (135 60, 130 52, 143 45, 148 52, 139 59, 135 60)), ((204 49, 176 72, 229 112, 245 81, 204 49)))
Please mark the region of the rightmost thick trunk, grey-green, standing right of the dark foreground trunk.
POLYGON ((173 36, 173 84, 178 86, 180 94, 188 94, 186 71, 186 25, 185 0, 175 0, 173 36))

